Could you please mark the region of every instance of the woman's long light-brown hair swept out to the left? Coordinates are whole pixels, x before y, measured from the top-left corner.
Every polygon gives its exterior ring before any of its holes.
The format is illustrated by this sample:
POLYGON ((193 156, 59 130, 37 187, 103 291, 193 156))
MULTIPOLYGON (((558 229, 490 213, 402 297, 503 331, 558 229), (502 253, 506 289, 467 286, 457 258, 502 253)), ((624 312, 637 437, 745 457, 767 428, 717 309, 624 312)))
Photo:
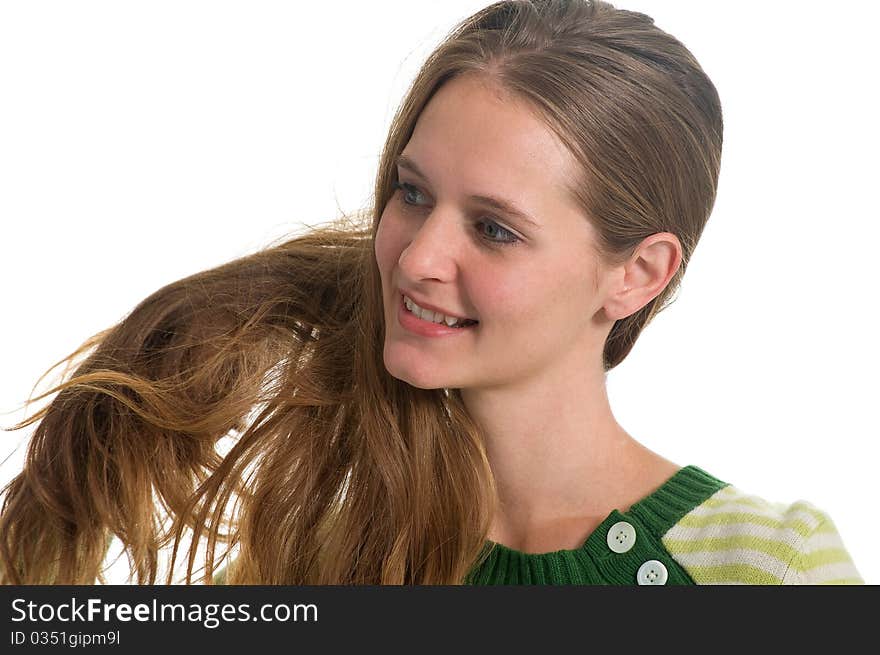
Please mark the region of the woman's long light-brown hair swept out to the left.
POLYGON ((232 549, 234 584, 467 582, 495 511, 483 436, 458 390, 385 369, 374 255, 395 159, 433 94, 465 73, 530 103, 576 157, 604 260, 658 232, 680 240, 670 284, 614 324, 605 371, 627 356, 673 299, 712 211, 718 94, 649 16, 497 2, 418 73, 370 209, 170 284, 59 362, 60 382, 35 399, 51 402, 11 428, 37 424, 3 489, 0 581, 103 582, 115 537, 139 584, 157 582, 168 551, 172 564, 187 553, 187 584, 210 583, 232 549))

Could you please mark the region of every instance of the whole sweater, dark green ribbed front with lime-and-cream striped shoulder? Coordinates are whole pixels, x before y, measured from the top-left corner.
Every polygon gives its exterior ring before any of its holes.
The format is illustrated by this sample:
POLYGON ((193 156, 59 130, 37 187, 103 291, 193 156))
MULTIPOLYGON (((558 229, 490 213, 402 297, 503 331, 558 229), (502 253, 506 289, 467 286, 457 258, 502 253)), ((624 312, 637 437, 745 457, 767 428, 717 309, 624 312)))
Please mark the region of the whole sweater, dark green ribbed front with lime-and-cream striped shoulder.
POLYGON ((483 552, 465 584, 865 584, 827 513, 768 502, 696 466, 613 510, 580 548, 524 553, 487 541, 483 552))

